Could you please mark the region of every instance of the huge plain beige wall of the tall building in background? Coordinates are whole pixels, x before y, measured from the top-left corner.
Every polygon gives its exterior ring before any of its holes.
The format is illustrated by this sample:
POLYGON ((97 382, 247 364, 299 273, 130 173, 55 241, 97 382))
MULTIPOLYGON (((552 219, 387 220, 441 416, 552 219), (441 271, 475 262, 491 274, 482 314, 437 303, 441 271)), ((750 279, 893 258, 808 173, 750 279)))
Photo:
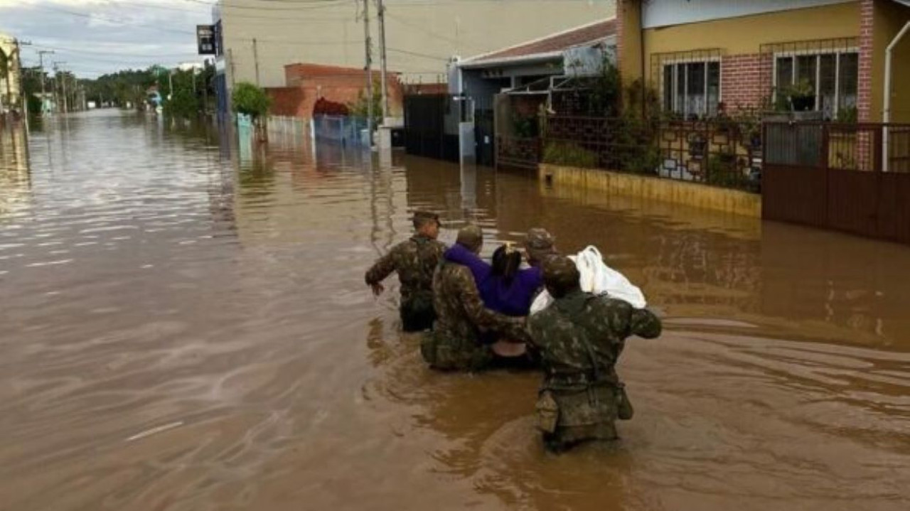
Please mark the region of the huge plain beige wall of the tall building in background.
MULTIPOLYGON (((220 9, 228 84, 283 86, 294 62, 362 66, 363 25, 353 1, 327 5, 231 0, 220 9), (238 7, 252 7, 242 9, 238 7), (253 39, 257 39, 256 55, 253 39), (232 74, 233 73, 233 74, 232 74)), ((362 5, 362 3, 360 4, 362 5)), ((386 0, 389 70, 405 82, 436 82, 452 55, 479 55, 614 14, 613 0, 386 0)), ((370 15, 375 5, 370 3, 370 15)), ((374 42, 377 24, 371 21, 374 42)), ((378 45, 374 62, 379 65, 378 45)))

